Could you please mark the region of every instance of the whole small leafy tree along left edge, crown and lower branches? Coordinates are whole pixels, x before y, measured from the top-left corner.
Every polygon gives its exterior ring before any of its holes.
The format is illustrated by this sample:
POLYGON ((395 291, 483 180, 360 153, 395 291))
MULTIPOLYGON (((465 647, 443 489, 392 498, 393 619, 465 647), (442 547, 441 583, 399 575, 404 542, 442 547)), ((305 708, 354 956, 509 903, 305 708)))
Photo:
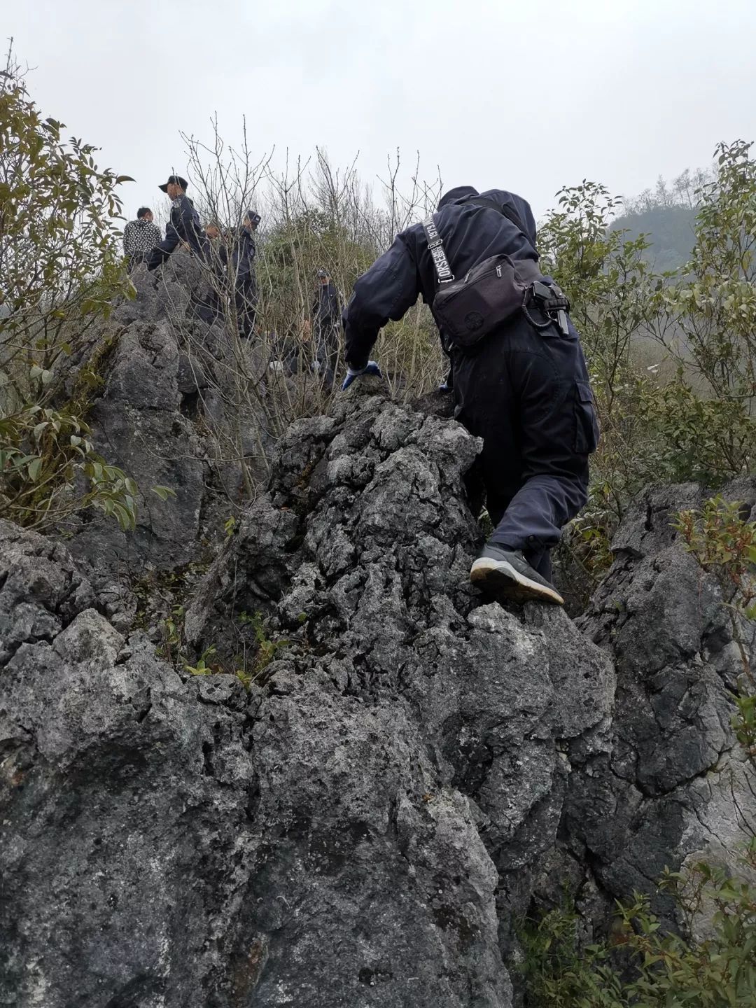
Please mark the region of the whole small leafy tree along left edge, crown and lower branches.
POLYGON ((128 528, 134 484, 94 452, 85 400, 53 408, 61 358, 131 289, 116 244, 116 187, 128 176, 101 171, 96 148, 66 142, 64 128, 42 117, 9 54, 0 76, 0 515, 41 528, 92 504, 128 528))

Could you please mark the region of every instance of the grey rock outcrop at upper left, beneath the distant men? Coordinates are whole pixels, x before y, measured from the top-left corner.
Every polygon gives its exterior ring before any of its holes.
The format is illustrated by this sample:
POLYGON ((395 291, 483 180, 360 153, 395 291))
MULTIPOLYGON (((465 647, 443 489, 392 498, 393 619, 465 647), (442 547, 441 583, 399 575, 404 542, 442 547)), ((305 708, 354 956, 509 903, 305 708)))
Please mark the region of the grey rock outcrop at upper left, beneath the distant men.
MULTIPOLYGON (((176 571, 206 557, 224 518, 243 500, 220 391, 227 376, 216 374, 228 367, 228 337, 220 324, 209 330, 192 317, 192 291, 204 289, 207 280, 182 252, 156 273, 140 266, 132 279, 136 297, 93 328, 67 381, 71 395, 90 362, 102 382, 91 393, 87 415, 95 447, 139 487, 133 532, 90 511, 69 543, 122 629, 133 615, 130 585, 149 572, 176 571), (154 486, 175 496, 161 500, 154 486)), ((259 480, 265 473, 263 430, 249 413, 233 422, 241 423, 239 448, 259 480)))

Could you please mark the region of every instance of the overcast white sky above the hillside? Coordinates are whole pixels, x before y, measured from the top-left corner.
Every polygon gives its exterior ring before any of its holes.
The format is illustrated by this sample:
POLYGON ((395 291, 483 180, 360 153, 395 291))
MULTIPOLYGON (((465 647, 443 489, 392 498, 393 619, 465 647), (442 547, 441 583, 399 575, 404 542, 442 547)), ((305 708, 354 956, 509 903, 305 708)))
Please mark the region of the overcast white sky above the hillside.
POLYGON ((2 26, 46 115, 155 205, 179 130, 363 177, 397 147, 446 187, 498 186, 536 215, 562 184, 635 195, 756 139, 754 0, 16 0, 2 26))

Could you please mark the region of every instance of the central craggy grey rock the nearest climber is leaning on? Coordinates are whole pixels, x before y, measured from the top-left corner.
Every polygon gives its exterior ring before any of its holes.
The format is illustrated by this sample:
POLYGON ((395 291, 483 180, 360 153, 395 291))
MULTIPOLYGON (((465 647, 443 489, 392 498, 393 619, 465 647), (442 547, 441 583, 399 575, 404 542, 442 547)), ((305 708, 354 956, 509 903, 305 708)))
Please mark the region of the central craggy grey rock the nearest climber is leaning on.
POLYGON ((614 679, 560 610, 471 589, 476 451, 377 395, 294 425, 187 613, 198 650, 242 652, 255 611, 290 641, 255 752, 266 885, 291 912, 256 921, 254 1004, 510 1003, 512 914, 555 841, 566 749, 614 679))

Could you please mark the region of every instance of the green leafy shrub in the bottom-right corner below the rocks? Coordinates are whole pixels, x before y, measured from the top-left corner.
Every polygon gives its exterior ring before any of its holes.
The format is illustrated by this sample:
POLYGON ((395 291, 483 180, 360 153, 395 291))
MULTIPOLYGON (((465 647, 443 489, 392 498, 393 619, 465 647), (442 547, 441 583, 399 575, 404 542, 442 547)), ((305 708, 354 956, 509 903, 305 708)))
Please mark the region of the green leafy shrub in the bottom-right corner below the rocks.
MULTIPOLYGON (((756 870, 756 841, 742 858, 756 870)), ((613 942, 584 946, 571 905, 520 928, 526 1008, 746 1008, 756 1004, 756 890, 705 863, 665 872, 661 888, 689 921, 708 907, 711 936, 664 931, 636 893, 620 905, 613 942)))

